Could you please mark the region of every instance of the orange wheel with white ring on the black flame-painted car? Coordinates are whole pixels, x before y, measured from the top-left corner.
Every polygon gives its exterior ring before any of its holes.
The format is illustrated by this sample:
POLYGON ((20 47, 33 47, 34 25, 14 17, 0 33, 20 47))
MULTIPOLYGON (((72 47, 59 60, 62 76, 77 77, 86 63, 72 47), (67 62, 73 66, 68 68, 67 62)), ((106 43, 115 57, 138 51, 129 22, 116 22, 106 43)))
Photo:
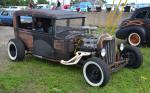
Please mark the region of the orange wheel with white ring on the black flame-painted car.
POLYGON ((132 46, 139 46, 141 43, 141 37, 138 33, 131 33, 128 37, 128 43, 132 46))

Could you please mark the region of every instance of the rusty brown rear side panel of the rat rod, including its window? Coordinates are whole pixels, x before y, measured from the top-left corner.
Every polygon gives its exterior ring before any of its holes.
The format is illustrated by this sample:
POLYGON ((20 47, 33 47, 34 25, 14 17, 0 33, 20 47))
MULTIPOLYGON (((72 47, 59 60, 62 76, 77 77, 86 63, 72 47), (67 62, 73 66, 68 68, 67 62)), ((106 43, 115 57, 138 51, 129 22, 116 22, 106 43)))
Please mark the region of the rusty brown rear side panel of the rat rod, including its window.
MULTIPOLYGON (((33 35, 32 35, 32 28, 33 28, 33 20, 32 16, 17 16, 17 22, 14 24, 14 29, 18 32, 19 38, 24 42, 26 48, 30 51, 33 50, 33 35), (30 20, 25 21, 22 20, 23 17, 28 17, 30 20)), ((15 21, 15 20, 14 20, 15 21)))

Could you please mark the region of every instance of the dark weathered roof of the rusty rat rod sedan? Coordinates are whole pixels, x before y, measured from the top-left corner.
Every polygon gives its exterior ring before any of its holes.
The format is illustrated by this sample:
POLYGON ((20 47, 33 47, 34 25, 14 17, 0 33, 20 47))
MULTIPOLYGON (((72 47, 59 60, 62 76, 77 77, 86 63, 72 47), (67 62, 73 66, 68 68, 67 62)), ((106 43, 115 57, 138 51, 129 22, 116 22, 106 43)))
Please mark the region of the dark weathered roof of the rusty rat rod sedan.
POLYGON ((32 15, 33 17, 44 17, 54 19, 71 19, 71 18, 85 18, 85 15, 65 11, 65 10, 50 10, 50 9, 26 9, 15 12, 15 15, 32 15))

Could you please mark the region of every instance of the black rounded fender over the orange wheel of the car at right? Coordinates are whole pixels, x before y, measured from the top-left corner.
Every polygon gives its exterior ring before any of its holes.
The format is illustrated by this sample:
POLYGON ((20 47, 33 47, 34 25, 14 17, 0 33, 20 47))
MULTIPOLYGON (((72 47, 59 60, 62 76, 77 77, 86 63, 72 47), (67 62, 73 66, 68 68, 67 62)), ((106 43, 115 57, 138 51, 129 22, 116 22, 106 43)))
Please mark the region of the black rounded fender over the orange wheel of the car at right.
POLYGON ((119 39, 126 39, 132 32, 138 33, 141 36, 142 41, 146 41, 146 29, 141 26, 130 26, 119 29, 116 31, 116 37, 119 39))

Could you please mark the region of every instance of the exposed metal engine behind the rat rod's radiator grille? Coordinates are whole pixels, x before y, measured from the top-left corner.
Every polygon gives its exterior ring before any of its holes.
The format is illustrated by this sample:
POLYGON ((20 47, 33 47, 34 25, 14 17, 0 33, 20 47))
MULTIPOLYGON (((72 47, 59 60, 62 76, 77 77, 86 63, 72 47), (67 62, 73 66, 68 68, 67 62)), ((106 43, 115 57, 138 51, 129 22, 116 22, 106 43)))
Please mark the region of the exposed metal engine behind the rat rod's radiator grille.
POLYGON ((84 27, 82 29, 84 29, 84 31, 80 31, 80 37, 76 36, 75 49, 86 52, 95 51, 97 49, 98 41, 98 36, 96 35, 97 28, 84 27))

